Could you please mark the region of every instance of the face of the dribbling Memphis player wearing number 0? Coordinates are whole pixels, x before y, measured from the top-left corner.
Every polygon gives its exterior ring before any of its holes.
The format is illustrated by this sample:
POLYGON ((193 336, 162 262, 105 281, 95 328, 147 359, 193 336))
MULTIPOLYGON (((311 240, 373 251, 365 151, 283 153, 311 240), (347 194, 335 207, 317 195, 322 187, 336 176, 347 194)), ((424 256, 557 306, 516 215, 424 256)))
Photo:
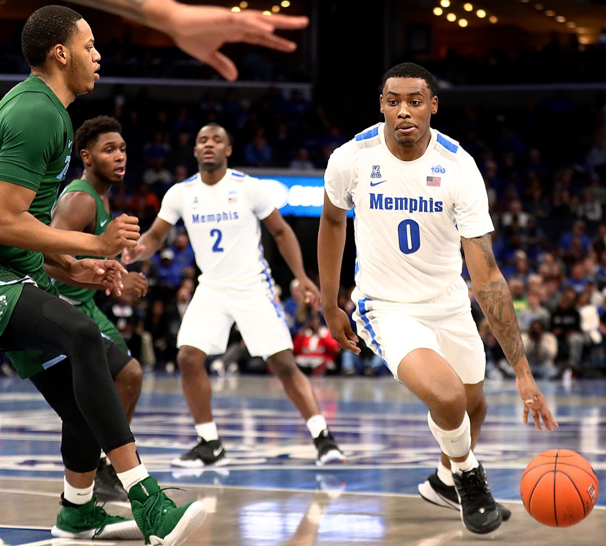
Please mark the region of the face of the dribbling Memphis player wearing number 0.
POLYGON ((424 79, 389 78, 381 95, 381 112, 393 139, 405 146, 415 145, 429 134, 438 97, 431 95, 424 79))

